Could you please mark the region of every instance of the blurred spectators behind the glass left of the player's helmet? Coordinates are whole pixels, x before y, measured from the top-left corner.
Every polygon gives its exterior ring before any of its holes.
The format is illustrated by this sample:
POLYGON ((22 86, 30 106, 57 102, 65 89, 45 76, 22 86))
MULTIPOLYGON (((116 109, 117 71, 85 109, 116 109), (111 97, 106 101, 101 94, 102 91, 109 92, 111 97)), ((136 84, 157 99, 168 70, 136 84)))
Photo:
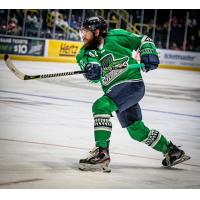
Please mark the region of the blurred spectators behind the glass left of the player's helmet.
POLYGON ((58 10, 0 10, 0 34, 79 41, 78 18, 69 21, 58 10))

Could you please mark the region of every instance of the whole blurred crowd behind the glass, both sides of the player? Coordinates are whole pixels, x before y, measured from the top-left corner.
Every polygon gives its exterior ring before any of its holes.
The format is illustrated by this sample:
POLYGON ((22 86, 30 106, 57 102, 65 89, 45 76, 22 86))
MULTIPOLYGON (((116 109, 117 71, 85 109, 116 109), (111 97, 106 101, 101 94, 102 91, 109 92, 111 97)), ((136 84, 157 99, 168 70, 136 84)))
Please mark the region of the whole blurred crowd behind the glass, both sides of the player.
MULTIPOLYGON (((90 11, 87 10, 85 16, 93 15, 90 11)), ((186 18, 187 10, 175 10, 172 12, 170 23, 169 10, 158 10, 156 26, 154 10, 144 10, 143 15, 142 10, 127 10, 127 12, 133 16, 133 24, 142 22, 147 25, 147 28, 142 29, 142 34, 152 37, 155 31, 153 39, 158 48, 200 52, 198 10, 189 10, 188 18, 186 18), (186 21, 187 37, 184 43, 186 21), (169 29, 170 37, 167 45, 169 29)), ((70 13, 70 10, 0 10, 0 34, 80 41, 78 29, 82 18, 82 10, 73 10, 73 13, 70 13)), ((123 20, 115 14, 112 14, 109 20, 110 29, 126 28, 123 20), (115 21, 119 20, 120 27, 116 27, 115 21)))

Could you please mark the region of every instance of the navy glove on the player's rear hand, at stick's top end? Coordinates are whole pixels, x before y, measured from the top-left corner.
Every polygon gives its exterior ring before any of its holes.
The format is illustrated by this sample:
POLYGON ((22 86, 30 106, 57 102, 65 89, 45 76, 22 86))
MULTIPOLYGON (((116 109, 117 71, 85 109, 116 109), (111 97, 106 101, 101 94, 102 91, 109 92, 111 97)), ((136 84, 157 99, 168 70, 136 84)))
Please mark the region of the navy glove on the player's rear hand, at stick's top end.
POLYGON ((158 64, 160 63, 159 58, 155 54, 145 54, 141 56, 141 63, 144 63, 144 68, 142 70, 144 72, 148 72, 150 70, 154 70, 158 68, 158 64))

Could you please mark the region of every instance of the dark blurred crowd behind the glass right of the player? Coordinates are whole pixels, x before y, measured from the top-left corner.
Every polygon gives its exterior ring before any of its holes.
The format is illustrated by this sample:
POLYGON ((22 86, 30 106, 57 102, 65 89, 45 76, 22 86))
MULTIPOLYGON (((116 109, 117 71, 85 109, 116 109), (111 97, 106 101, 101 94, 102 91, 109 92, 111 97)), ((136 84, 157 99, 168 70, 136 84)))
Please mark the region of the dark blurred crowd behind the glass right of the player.
POLYGON ((172 50, 187 50, 200 52, 200 15, 199 10, 172 10, 170 21, 170 10, 157 10, 155 19, 155 10, 128 10, 133 14, 133 21, 148 25, 143 29, 143 34, 153 37, 155 28, 154 42, 158 48, 172 50), (189 13, 187 18, 187 13, 189 13), (154 25, 156 21, 156 25, 154 25), (185 30, 187 24, 186 40, 184 42, 185 30), (170 29, 170 30, 169 30, 170 29), (167 45, 168 31, 170 32, 167 45))

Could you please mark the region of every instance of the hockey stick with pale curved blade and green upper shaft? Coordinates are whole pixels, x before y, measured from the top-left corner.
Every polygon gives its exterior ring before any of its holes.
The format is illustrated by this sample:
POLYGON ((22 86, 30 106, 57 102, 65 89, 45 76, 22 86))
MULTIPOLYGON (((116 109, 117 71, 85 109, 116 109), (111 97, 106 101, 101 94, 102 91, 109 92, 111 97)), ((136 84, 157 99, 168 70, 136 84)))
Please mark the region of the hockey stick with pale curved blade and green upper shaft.
MULTIPOLYGON (((21 80, 31 80, 31 79, 42 79, 42 78, 51 78, 51 77, 58 77, 58 76, 69 76, 69 75, 75 75, 75 74, 84 74, 85 71, 71 71, 71 72, 60 72, 60 73, 53 73, 53 74, 40 74, 40 75, 27 75, 21 72, 16 68, 16 66, 13 64, 12 60, 10 59, 9 55, 4 56, 4 61, 7 65, 7 67, 21 80)), ((144 64, 132 64, 129 65, 130 68, 141 68, 144 67, 144 64)), ((122 68, 119 68, 122 69, 122 68)), ((116 69, 115 69, 116 70, 116 69)))

